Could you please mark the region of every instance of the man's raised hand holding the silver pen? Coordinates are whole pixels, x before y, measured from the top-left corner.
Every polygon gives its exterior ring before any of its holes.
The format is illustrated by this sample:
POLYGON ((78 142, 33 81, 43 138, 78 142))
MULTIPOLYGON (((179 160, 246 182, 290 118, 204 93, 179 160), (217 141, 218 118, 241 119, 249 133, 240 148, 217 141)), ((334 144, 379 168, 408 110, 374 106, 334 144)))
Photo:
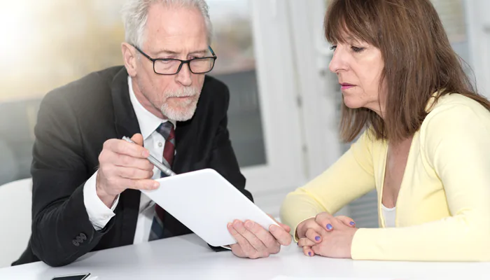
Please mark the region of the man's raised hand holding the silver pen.
POLYGON ((131 138, 136 144, 109 139, 99 155, 96 190, 100 200, 111 208, 116 197, 127 188, 154 190, 160 184, 150 180, 153 165, 146 158, 150 152, 143 147, 141 134, 131 138))

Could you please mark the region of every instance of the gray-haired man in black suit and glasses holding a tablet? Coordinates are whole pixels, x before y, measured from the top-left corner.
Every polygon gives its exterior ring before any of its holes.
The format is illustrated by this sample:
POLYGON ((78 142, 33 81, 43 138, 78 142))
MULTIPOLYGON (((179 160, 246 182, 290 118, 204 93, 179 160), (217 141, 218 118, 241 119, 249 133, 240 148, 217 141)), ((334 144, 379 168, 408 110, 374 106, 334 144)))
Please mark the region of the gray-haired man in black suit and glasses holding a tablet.
MULTIPOLYGON (((216 59, 207 4, 130 0, 124 18, 125 65, 43 99, 31 167, 32 235, 14 265, 66 265, 89 251, 190 233, 139 191, 156 188, 161 176, 146 160, 150 153, 177 174, 215 169, 252 200, 228 136, 228 87, 204 75, 216 59)), ((291 240, 286 225, 267 231, 234 221, 228 230, 242 258, 278 253, 291 240)))

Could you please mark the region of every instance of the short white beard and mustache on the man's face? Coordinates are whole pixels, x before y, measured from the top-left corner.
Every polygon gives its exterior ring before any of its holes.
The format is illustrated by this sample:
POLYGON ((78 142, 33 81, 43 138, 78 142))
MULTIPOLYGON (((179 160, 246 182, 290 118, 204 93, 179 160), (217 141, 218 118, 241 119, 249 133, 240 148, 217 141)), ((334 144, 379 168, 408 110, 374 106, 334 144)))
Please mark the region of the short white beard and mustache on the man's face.
POLYGON ((169 120, 176 120, 176 121, 186 121, 190 120, 190 118, 193 118, 195 110, 197 108, 197 100, 200 95, 200 90, 197 90, 195 87, 183 87, 181 90, 177 92, 165 92, 165 97, 194 97, 192 99, 187 99, 184 101, 181 101, 181 106, 175 107, 175 106, 169 106, 167 102, 162 104, 162 107, 160 107, 160 111, 164 116, 169 118, 169 120))

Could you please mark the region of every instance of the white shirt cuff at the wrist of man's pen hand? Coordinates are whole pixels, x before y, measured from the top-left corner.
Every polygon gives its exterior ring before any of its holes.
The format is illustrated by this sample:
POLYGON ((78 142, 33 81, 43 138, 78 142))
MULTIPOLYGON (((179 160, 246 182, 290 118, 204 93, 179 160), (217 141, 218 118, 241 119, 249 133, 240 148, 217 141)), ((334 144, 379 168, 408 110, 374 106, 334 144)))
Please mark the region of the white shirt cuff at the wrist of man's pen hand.
POLYGON ((96 190, 97 172, 95 172, 90 179, 85 182, 83 186, 83 203, 87 210, 88 219, 92 223, 95 230, 102 230, 106 227, 107 223, 111 221, 114 214, 114 209, 119 202, 119 195, 113 202, 111 209, 100 200, 96 190))

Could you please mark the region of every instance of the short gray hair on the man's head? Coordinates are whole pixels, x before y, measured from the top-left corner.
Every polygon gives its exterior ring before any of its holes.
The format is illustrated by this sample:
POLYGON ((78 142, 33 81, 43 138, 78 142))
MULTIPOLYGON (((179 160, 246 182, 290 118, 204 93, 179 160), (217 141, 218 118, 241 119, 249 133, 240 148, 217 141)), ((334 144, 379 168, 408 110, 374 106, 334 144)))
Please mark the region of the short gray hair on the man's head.
POLYGON ((123 22, 125 26, 125 40, 127 43, 142 48, 144 32, 148 20, 148 10, 153 3, 162 3, 168 6, 197 8, 204 17, 207 29, 207 41, 211 44, 213 26, 209 18, 209 7, 205 0, 127 0, 123 6, 123 22))

